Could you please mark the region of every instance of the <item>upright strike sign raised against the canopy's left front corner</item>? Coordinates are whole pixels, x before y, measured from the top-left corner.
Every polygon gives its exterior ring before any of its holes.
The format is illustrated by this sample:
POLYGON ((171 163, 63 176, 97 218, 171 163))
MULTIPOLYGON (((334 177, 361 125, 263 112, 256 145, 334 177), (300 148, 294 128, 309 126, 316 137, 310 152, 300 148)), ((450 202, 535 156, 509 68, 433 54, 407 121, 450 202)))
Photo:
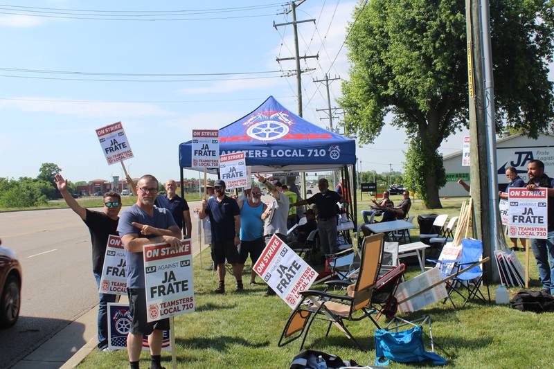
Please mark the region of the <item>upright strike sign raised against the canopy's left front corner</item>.
POLYGON ((193 129, 193 168, 217 168, 220 165, 220 131, 193 129))

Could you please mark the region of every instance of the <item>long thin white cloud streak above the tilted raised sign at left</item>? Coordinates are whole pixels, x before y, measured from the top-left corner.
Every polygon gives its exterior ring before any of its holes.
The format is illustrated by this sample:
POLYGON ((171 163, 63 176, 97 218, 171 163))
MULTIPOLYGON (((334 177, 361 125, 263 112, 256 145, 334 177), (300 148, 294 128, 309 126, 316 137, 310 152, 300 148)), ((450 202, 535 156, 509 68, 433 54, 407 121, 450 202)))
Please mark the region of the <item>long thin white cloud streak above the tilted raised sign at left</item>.
POLYGON ((44 111, 55 114, 69 114, 84 117, 140 117, 169 116, 173 113, 157 105, 141 102, 67 101, 56 98, 22 97, 14 100, 0 100, 0 109, 21 111, 44 111))

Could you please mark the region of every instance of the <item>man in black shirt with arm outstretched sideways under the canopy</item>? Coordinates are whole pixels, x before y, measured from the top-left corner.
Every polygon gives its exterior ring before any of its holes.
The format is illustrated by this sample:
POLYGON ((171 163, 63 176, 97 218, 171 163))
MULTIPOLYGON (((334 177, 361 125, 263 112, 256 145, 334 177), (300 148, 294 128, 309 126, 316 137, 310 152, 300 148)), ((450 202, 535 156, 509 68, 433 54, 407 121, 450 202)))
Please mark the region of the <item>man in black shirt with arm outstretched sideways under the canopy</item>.
POLYGON ((337 251, 337 202, 343 203, 344 199, 337 192, 329 190, 329 182, 325 178, 319 179, 317 187, 319 193, 310 199, 301 200, 292 205, 316 204, 321 251, 331 254, 337 251))

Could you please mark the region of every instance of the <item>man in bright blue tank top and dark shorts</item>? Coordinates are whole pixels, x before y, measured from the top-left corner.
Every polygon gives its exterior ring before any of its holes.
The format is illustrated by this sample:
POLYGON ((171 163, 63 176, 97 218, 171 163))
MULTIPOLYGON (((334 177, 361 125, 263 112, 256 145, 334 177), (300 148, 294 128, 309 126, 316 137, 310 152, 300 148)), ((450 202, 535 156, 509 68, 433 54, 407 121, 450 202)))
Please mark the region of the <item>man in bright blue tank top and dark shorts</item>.
MULTIPOLYGON (((239 262, 244 267, 244 262, 249 254, 253 265, 260 258, 265 247, 262 213, 267 209, 267 205, 262 202, 262 190, 254 186, 251 196, 238 201, 238 208, 240 208, 239 262)), ((253 269, 250 276, 250 284, 256 285, 256 272, 253 269)))

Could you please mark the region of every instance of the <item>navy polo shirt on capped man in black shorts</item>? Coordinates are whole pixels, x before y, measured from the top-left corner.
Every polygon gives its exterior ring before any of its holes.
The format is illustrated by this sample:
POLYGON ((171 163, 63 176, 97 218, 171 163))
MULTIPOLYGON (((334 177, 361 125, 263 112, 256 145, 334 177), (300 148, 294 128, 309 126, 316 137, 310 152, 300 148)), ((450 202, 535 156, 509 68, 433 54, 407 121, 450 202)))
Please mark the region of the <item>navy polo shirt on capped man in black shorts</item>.
POLYGON ((235 199, 225 196, 220 202, 217 197, 210 197, 206 203, 206 214, 210 217, 212 242, 235 238, 235 215, 240 215, 235 199))

